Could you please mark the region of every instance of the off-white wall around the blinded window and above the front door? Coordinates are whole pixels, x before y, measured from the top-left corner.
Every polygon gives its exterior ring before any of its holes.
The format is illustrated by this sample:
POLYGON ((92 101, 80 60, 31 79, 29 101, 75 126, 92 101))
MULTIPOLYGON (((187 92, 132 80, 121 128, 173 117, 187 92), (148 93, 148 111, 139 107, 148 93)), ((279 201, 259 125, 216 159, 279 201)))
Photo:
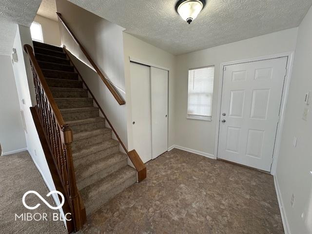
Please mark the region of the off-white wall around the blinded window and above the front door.
POLYGON ((215 157, 215 128, 220 63, 293 51, 297 28, 177 56, 175 79, 175 144, 215 157), (212 121, 187 119, 188 70, 215 65, 212 121), (192 136, 192 137, 187 137, 192 136))

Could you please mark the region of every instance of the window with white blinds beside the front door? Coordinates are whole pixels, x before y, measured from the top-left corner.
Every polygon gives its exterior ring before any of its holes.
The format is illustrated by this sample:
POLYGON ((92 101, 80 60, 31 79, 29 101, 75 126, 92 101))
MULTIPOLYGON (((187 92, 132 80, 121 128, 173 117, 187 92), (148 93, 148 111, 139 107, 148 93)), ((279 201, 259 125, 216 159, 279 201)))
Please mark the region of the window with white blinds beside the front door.
POLYGON ((211 120, 215 66, 189 70, 187 117, 211 120))

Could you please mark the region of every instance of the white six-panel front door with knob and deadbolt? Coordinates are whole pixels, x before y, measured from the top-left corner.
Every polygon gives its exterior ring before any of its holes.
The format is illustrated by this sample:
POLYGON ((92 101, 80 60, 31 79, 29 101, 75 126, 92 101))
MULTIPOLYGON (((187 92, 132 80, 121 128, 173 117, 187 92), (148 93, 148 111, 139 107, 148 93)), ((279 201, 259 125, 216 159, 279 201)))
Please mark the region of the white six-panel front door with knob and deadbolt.
POLYGON ((271 171, 287 57, 225 66, 217 157, 271 171))

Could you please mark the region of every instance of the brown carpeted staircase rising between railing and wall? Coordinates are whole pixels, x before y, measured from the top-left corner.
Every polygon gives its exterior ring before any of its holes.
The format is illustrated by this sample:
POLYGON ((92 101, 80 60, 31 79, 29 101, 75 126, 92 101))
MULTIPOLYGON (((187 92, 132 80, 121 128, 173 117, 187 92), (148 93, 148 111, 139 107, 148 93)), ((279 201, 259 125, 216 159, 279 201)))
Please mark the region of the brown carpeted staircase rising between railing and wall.
POLYGON ((137 182, 137 171, 119 152, 119 141, 105 127, 98 107, 61 47, 33 41, 39 66, 65 122, 73 131, 72 152, 77 187, 90 215, 137 182))

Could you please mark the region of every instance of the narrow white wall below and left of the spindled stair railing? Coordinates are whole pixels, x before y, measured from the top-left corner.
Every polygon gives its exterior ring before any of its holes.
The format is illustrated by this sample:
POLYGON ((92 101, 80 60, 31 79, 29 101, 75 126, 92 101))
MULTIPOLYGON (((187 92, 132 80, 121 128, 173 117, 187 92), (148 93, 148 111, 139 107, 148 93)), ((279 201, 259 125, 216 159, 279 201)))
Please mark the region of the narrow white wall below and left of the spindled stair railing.
MULTIPOLYGON (((28 55, 23 51, 23 45, 32 45, 30 28, 18 26, 13 47, 16 48, 19 61, 13 63, 13 72, 19 97, 20 109, 24 111, 27 133, 25 133, 27 150, 37 166, 42 178, 50 191, 56 190, 47 161, 45 159, 39 136, 33 121, 30 107, 36 105, 33 76, 28 55), (31 97, 32 96, 32 97, 31 97), (24 100, 24 104, 22 102, 24 100)), ((12 139, 11 139, 12 140, 12 139)), ((43 195, 42 195, 43 196, 43 195)), ((53 195, 56 204, 59 205, 58 195, 53 195)), ((63 215, 63 211, 60 210, 63 215)), ((64 215, 63 215, 64 217, 64 215)))

